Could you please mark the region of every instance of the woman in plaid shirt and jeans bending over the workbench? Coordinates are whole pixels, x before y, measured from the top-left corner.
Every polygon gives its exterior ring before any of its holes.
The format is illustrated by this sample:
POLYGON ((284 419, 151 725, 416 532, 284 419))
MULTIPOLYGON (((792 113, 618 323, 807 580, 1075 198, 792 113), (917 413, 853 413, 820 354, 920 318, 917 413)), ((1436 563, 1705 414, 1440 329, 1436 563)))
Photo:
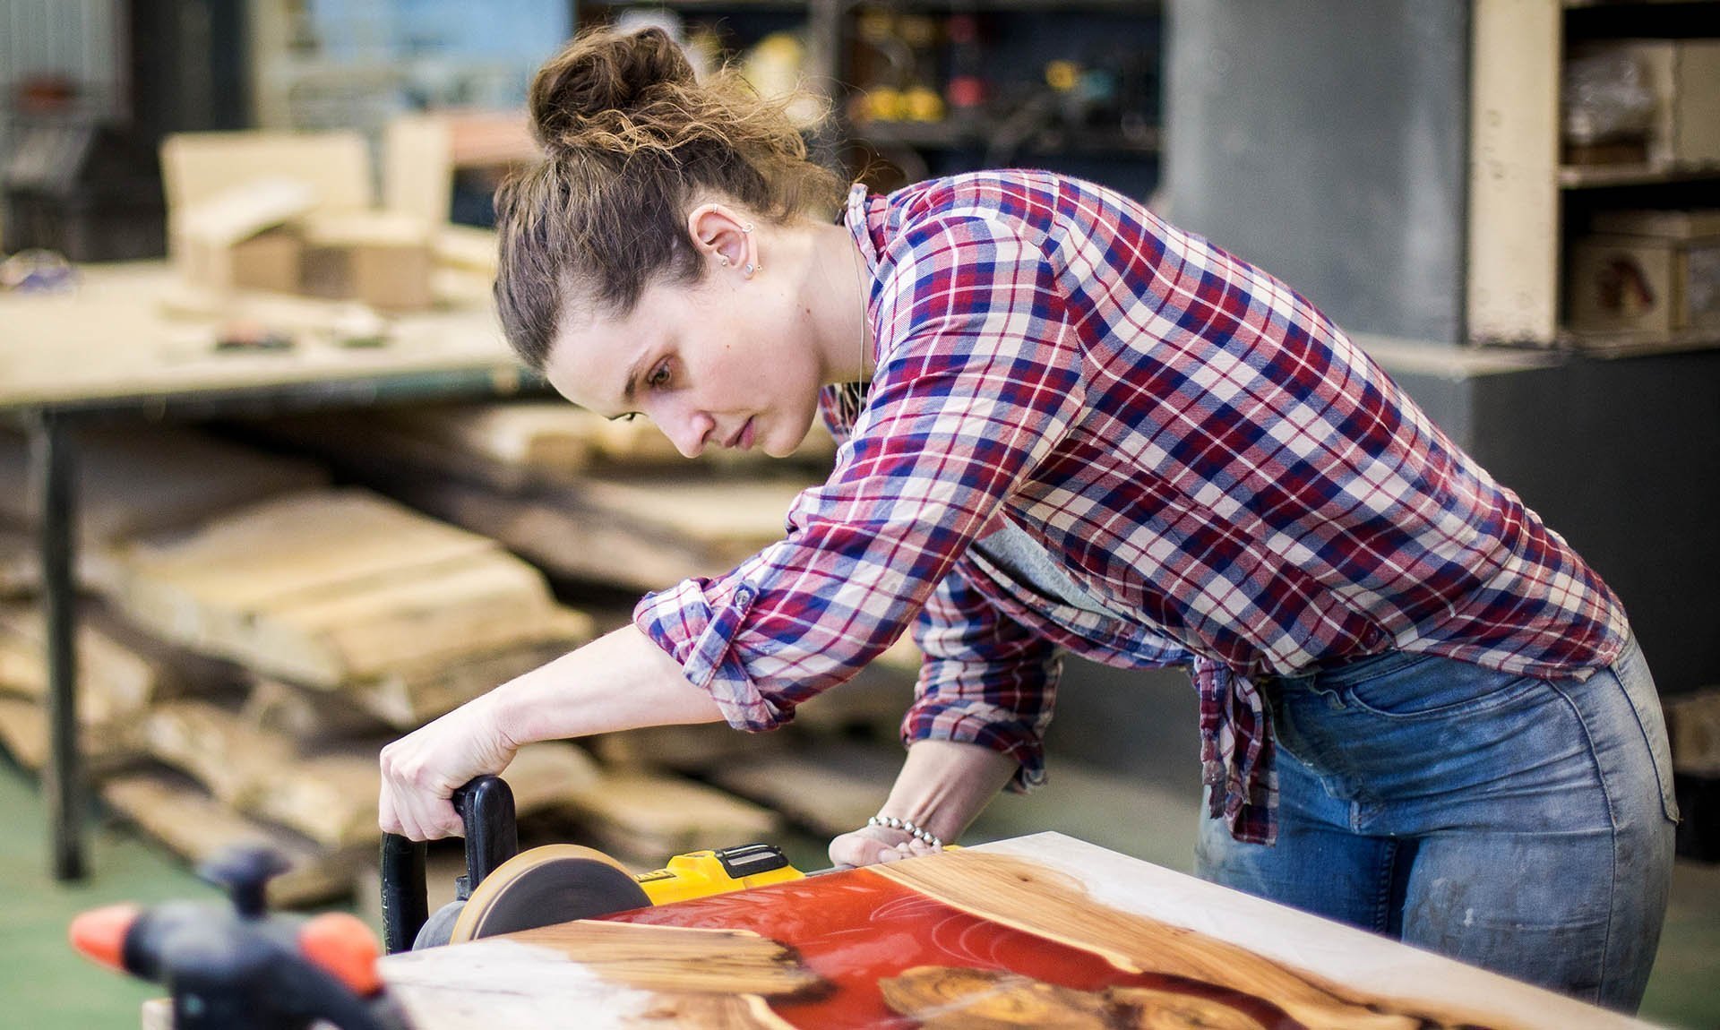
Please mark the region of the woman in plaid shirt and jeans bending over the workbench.
POLYGON ((384 750, 382 825, 526 741, 769 729, 910 624, 906 763, 839 863, 1042 779, 1058 655, 1187 665, 1209 879, 1622 1009, 1665 908, 1665 731, 1624 610, 1331 322, 1041 172, 848 193, 660 31, 537 77, 497 196, 507 337, 688 456, 841 447, 726 576, 384 750), (863 385, 862 385, 863 383, 863 385))

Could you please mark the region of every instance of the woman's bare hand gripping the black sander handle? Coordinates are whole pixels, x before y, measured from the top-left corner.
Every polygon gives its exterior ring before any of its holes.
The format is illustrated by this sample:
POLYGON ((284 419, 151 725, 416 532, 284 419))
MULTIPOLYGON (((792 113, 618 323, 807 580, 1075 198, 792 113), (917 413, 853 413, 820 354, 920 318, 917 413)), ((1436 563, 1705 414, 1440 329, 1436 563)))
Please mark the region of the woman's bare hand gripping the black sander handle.
POLYGON ((449 801, 454 788, 502 772, 518 750, 495 717, 494 696, 468 702, 382 748, 377 822, 384 832, 413 841, 464 834, 449 801))

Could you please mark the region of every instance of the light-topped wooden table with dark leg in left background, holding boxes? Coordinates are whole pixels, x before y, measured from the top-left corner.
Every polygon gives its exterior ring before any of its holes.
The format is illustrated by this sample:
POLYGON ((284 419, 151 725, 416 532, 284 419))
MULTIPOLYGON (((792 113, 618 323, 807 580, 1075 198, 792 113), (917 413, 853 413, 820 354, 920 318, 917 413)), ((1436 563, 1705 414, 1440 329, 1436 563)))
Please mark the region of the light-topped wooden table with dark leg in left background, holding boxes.
POLYGON ((65 294, 0 294, 0 416, 31 433, 40 504, 41 604, 48 638, 50 762, 43 789, 53 875, 84 875, 72 648, 74 423, 196 420, 380 402, 518 394, 537 380, 507 351, 487 304, 408 315, 380 347, 342 347, 323 328, 334 306, 243 296, 208 306, 163 263, 79 268, 65 294), (181 304, 196 311, 169 315, 181 304), (215 325, 249 318, 292 334, 287 351, 218 353, 215 325))

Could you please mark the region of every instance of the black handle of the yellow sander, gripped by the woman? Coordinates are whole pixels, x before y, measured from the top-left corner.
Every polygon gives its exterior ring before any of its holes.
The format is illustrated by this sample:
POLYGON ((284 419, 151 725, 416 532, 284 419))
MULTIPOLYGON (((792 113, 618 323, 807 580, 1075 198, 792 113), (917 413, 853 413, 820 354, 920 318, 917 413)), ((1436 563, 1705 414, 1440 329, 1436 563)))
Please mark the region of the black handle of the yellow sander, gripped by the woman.
MULTIPOLYGON (((499 776, 480 776, 454 788, 449 798, 466 834, 466 875, 458 894, 464 901, 495 867, 519 853, 514 791, 499 776)), ((382 946, 387 954, 411 951, 430 918, 425 884, 425 843, 382 834, 382 946)))

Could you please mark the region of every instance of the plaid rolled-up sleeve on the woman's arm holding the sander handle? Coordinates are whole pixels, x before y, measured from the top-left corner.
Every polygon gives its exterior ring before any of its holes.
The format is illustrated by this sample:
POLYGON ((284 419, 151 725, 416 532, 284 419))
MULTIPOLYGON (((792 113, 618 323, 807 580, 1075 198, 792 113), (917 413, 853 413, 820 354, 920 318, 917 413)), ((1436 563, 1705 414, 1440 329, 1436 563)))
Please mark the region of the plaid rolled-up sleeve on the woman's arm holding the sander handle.
POLYGON ((633 614, 740 729, 791 719, 894 643, 1084 401, 1054 272, 1010 224, 906 229, 877 289, 884 351, 867 408, 829 481, 796 499, 788 536, 633 614))

